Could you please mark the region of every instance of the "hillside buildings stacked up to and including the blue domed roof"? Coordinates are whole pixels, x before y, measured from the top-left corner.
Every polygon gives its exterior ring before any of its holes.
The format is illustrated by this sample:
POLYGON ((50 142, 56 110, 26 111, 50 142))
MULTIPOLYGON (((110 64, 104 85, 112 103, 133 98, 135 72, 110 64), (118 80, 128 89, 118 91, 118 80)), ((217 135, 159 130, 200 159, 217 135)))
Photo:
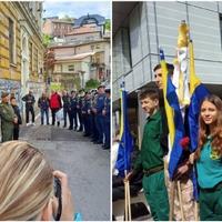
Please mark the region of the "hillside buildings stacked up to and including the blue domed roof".
POLYGON ((103 17, 83 16, 63 41, 49 46, 54 56, 50 74, 53 83, 61 83, 67 90, 84 88, 90 79, 110 83, 110 34, 104 32, 104 24, 103 17))

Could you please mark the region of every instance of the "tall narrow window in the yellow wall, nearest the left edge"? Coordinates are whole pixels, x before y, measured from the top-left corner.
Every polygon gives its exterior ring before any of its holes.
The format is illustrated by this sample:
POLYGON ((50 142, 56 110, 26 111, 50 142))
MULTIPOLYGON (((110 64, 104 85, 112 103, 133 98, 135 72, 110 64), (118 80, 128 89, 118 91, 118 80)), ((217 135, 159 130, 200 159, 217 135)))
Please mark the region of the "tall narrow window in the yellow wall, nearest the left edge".
POLYGON ((9 18, 9 60, 10 63, 16 63, 16 39, 14 39, 14 22, 9 18))

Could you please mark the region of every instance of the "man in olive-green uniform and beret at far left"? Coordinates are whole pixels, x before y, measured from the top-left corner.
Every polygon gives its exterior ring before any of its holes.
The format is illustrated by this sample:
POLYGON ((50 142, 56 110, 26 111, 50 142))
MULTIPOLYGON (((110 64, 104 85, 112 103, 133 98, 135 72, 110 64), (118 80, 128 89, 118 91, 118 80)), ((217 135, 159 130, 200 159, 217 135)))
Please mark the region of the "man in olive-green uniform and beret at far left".
POLYGON ((13 108, 9 104, 10 95, 8 92, 1 93, 0 117, 1 117, 1 141, 10 141, 13 139, 14 123, 18 123, 18 118, 14 114, 13 108))

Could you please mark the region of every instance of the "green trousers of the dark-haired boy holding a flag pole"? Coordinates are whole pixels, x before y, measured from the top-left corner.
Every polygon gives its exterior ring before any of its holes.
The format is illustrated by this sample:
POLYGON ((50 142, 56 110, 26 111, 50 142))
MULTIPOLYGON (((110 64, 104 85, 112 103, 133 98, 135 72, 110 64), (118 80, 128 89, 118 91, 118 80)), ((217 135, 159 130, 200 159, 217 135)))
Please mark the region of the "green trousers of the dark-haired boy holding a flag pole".
POLYGON ((169 220, 169 199, 163 170, 149 176, 144 175, 142 185, 154 221, 169 220))

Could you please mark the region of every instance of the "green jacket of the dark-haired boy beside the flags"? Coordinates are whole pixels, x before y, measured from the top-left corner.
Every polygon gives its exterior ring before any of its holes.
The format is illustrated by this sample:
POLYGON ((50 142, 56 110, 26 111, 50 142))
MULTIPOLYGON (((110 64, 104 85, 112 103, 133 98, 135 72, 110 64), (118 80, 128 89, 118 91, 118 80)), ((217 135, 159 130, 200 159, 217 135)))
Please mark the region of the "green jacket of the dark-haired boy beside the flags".
POLYGON ((161 112, 158 110, 147 119, 143 130, 141 151, 135 159, 134 170, 150 170, 163 165, 163 148, 160 143, 162 134, 161 112))

